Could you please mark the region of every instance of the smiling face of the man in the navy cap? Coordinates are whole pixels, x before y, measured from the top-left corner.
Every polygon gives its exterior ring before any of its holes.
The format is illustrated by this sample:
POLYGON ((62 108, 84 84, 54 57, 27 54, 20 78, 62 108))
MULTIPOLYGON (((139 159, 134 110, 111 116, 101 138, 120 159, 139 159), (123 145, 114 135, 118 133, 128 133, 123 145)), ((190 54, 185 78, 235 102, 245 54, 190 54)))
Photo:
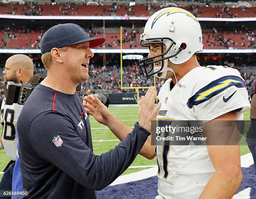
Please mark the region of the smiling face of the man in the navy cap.
POLYGON ((64 67, 71 80, 75 83, 89 79, 89 62, 94 56, 89 48, 89 42, 67 46, 67 51, 63 51, 62 57, 64 67))

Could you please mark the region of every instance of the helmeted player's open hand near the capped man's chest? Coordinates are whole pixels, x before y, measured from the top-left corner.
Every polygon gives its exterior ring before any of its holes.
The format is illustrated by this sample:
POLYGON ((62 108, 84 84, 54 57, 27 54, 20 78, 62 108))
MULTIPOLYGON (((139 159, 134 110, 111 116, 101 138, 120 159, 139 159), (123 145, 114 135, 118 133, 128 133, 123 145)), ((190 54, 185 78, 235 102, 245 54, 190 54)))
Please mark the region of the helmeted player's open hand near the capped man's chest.
POLYGON ((87 114, 92 115, 97 122, 107 125, 108 119, 112 116, 108 108, 100 102, 97 95, 84 97, 83 106, 87 114))

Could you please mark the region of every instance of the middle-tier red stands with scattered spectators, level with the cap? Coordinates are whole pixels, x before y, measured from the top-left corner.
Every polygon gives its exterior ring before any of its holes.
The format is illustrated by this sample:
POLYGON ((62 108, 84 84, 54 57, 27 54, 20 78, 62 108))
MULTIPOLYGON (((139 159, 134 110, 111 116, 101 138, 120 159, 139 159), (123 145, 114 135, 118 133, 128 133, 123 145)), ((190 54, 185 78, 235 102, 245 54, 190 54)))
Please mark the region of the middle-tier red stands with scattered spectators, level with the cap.
MULTIPOLYGON (((89 28, 85 28, 87 33, 91 37, 97 37, 98 35, 102 36, 102 32, 100 30, 91 30, 89 28)), ((40 48, 41 37, 44 35, 44 29, 31 29, 29 27, 20 27, 17 28, 14 25, 6 27, 2 30, 3 38, 0 41, 1 48, 40 48), (6 40, 6 35, 8 35, 8 39, 6 40), (36 35, 36 37, 34 36, 36 35), (23 42, 16 42, 13 44, 12 40, 25 40, 23 42), (8 43, 11 42, 9 45, 8 43)), ((139 47, 138 38, 141 34, 139 29, 125 30, 123 31, 123 44, 128 43, 126 48, 137 48, 139 47)), ((100 47, 97 48, 118 48, 120 47, 120 36, 118 34, 106 34, 106 42, 100 47)), ((256 48, 255 43, 255 35, 256 31, 252 29, 248 29, 246 26, 241 26, 241 28, 233 28, 233 30, 221 30, 212 27, 212 30, 205 30, 203 32, 203 42, 204 47, 207 49, 211 49, 212 47, 221 47, 221 48, 256 48)))

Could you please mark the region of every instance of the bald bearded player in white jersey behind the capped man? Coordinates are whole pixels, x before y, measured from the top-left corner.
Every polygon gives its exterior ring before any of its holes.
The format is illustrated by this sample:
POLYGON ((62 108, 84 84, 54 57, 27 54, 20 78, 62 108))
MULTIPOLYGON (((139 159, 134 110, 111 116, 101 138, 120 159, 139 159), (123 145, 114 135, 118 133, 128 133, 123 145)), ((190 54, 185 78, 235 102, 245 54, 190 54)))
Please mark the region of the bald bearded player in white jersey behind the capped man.
MULTIPOLYGON (((8 81, 15 83, 26 83, 30 77, 33 76, 33 61, 27 55, 13 55, 6 60, 5 69, 3 70, 3 77, 5 85, 8 81)), ((17 137, 16 124, 20 111, 23 105, 13 104, 7 105, 3 100, 1 105, 0 122, 3 125, 2 136, 0 137, 0 149, 5 149, 6 155, 15 161, 17 137)), ((5 173, 0 182, 0 190, 12 190, 12 176, 15 162, 10 167, 5 168, 5 173)))

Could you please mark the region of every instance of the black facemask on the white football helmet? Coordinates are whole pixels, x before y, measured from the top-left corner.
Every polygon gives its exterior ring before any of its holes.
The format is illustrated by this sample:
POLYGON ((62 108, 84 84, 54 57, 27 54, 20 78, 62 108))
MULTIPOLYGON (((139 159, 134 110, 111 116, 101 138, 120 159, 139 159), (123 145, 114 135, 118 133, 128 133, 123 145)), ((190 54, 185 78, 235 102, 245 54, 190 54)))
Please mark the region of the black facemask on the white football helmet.
MULTIPOLYGON (((140 46, 142 47, 148 47, 150 50, 150 45, 152 44, 160 44, 161 45, 161 54, 156 55, 154 57, 145 57, 141 60, 139 60, 139 66, 141 68, 141 72, 143 74, 143 77, 149 77, 151 75, 155 75, 158 73, 162 73, 162 75, 156 75, 158 77, 166 77, 167 70, 165 68, 168 67, 168 59, 175 57, 179 54, 179 52, 182 51, 182 48, 179 47, 178 49, 175 49, 176 53, 173 55, 169 55, 169 51, 172 49, 172 47, 176 46, 176 42, 172 40, 169 37, 154 37, 154 38, 147 38, 147 35, 145 33, 141 34, 141 40, 140 40, 140 46), (169 47, 164 52, 164 45, 169 44, 169 47), (167 56, 166 56, 167 55, 167 56), (157 60, 154 60, 155 58, 159 58, 157 60), (161 62, 161 67, 154 66, 155 63, 161 62)), ((167 47, 167 45, 166 45, 167 47)))

